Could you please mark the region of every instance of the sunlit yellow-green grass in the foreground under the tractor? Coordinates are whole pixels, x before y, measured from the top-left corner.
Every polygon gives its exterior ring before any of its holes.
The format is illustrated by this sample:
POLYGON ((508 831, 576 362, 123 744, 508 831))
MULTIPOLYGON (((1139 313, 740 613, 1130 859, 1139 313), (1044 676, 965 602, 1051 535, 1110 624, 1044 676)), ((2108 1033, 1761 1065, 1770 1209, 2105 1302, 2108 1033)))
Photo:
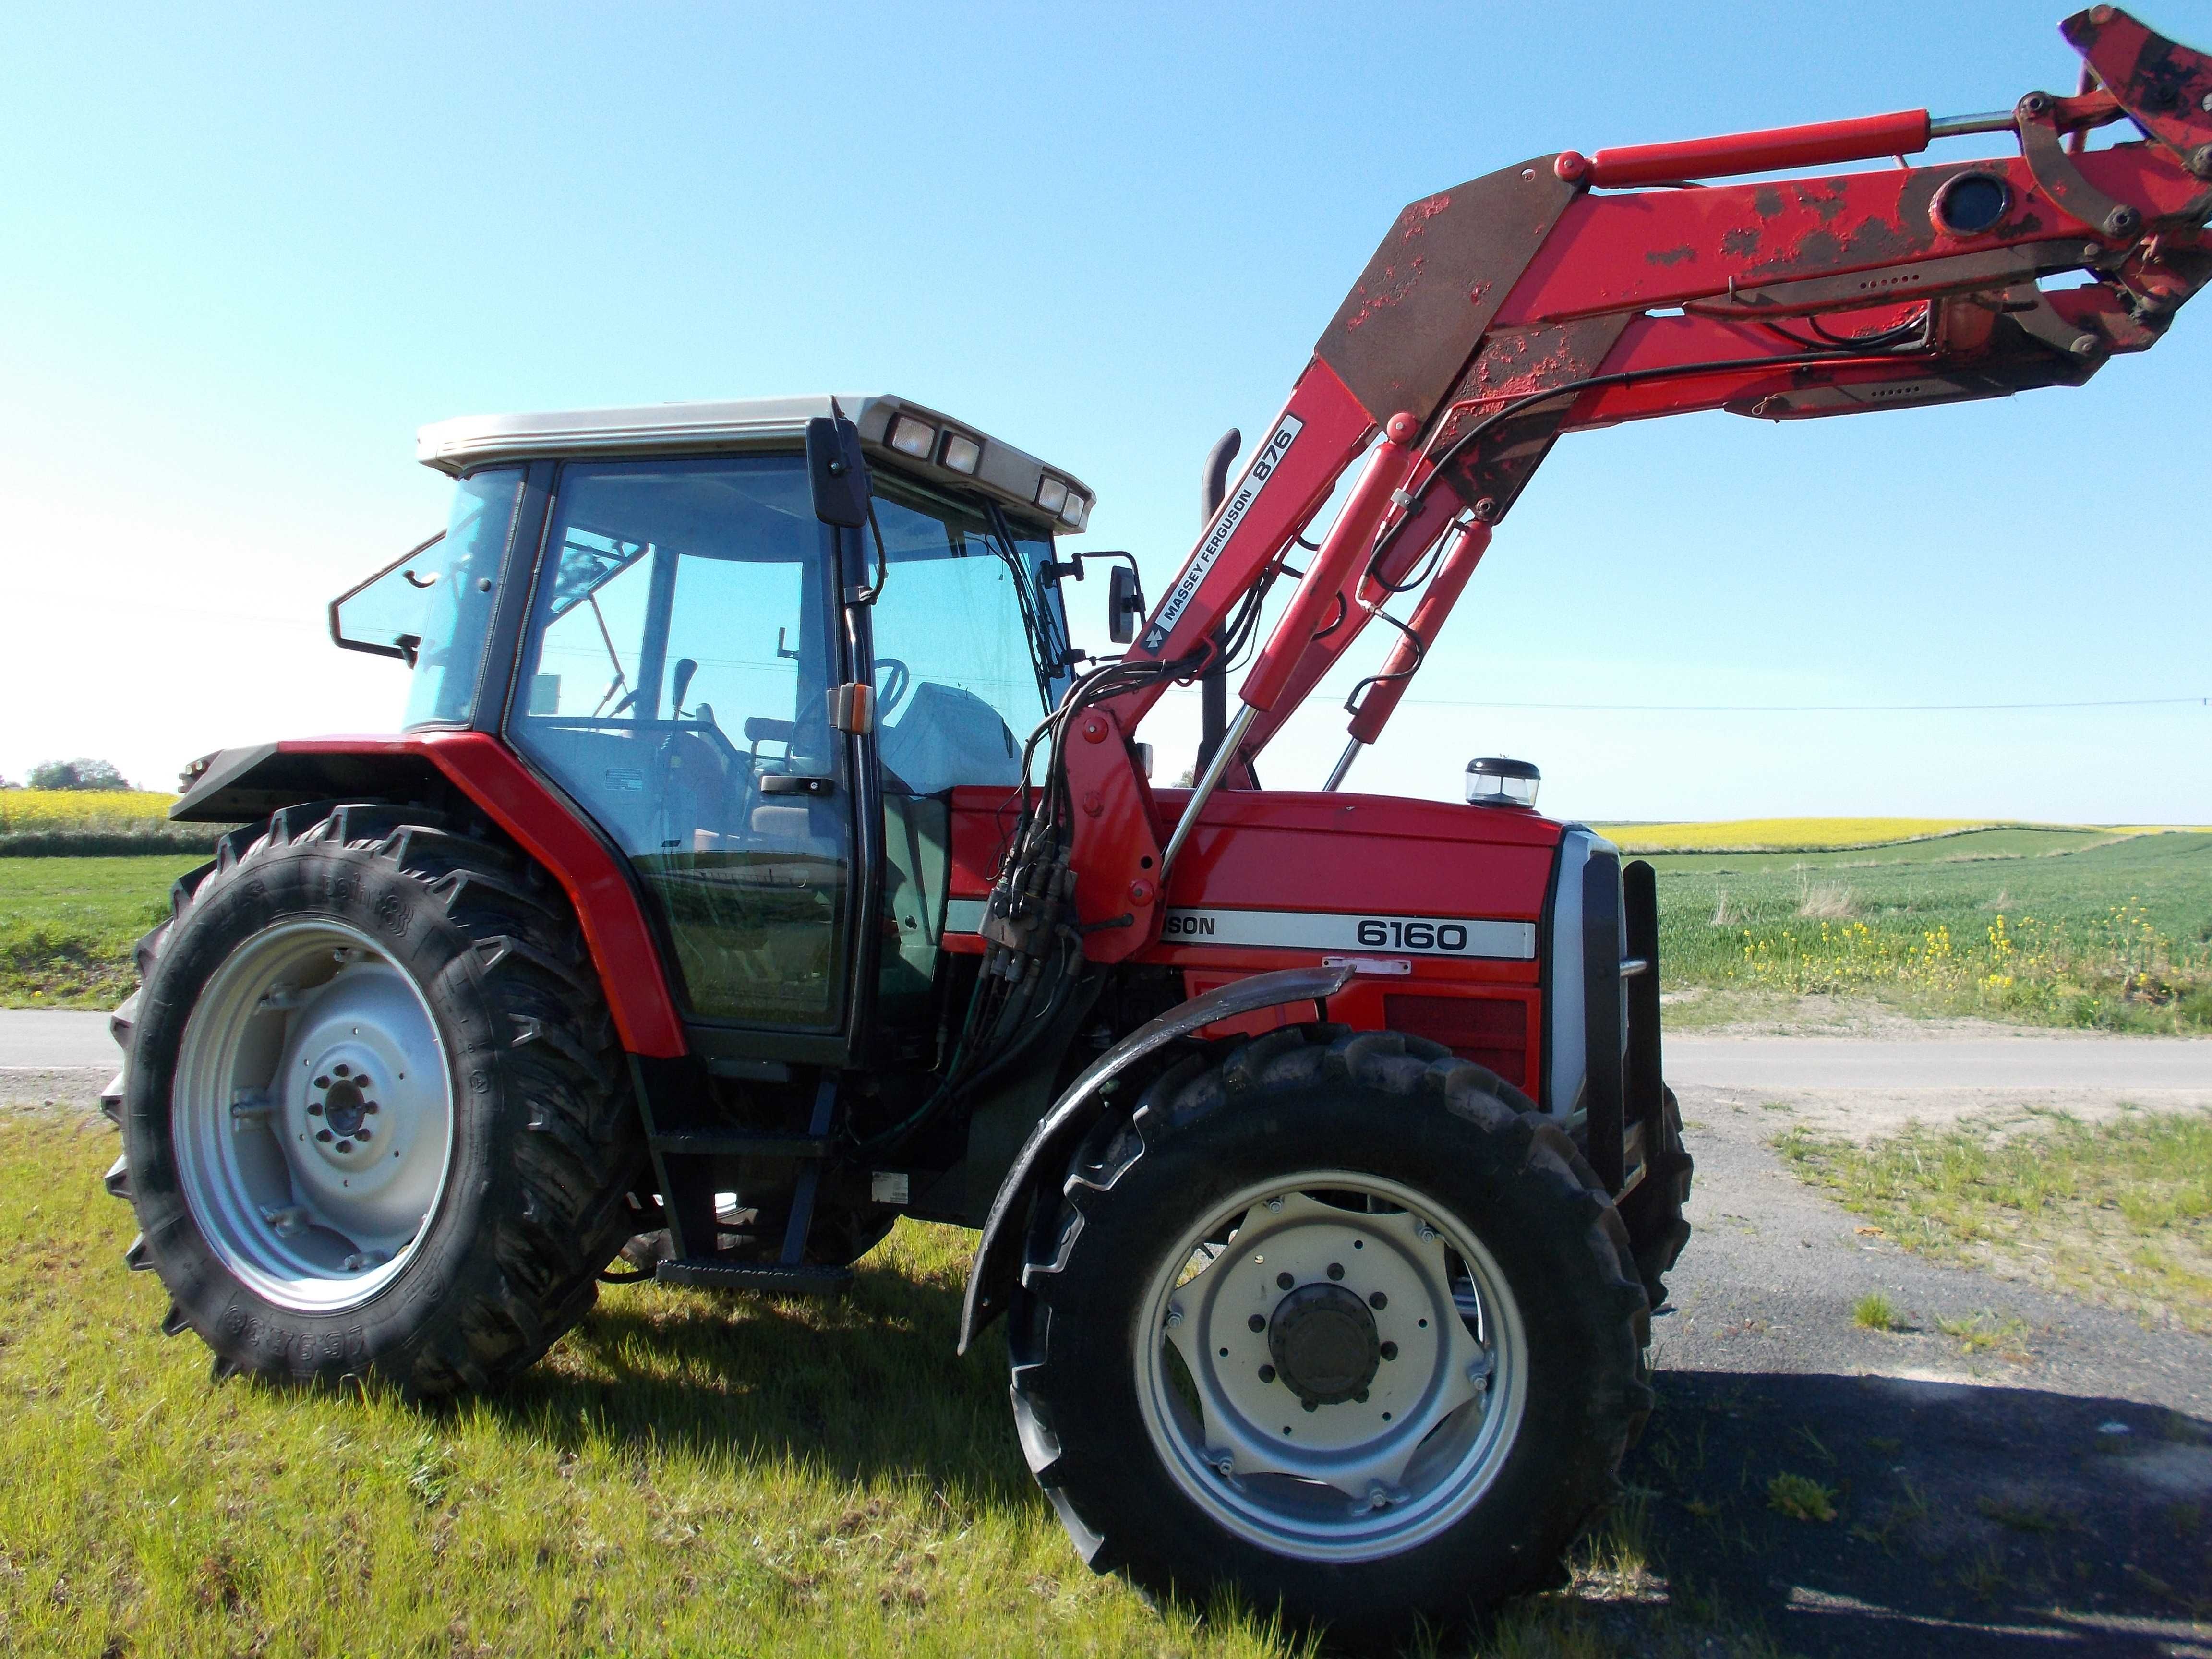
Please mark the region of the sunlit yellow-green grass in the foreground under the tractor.
MULTIPOLYGON (((0 1652, 1312 1652, 1075 1559, 1002 1340, 953 1356, 964 1232, 902 1223, 836 1303, 608 1290, 502 1396, 418 1409, 210 1383, 122 1270, 113 1155, 0 1113, 0 1652)), ((1648 1548, 1632 1504, 1475 1652, 1599 1659, 1624 1608, 1639 1652, 1772 1652, 1648 1548)))

